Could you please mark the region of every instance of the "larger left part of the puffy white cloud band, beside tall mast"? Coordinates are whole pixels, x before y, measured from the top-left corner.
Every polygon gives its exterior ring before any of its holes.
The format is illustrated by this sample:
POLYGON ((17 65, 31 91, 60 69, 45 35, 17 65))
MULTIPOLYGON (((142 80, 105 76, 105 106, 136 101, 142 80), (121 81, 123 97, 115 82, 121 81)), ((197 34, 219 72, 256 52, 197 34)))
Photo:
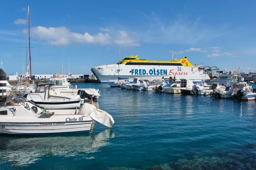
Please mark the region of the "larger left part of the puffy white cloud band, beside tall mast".
POLYGON ((75 33, 66 27, 32 27, 33 36, 39 40, 48 41, 52 46, 67 46, 70 44, 110 44, 111 36, 109 34, 98 33, 90 35, 89 33, 75 33))

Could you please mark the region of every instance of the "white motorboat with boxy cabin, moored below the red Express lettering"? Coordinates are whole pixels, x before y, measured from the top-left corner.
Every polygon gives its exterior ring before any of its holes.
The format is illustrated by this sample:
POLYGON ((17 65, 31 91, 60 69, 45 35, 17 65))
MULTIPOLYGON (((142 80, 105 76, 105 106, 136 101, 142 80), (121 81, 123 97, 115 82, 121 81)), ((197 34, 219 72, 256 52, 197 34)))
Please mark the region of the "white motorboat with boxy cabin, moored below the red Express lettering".
POLYGON ((192 89, 194 83, 191 79, 180 79, 180 82, 174 82, 170 87, 165 87, 165 93, 179 94, 181 89, 192 89))

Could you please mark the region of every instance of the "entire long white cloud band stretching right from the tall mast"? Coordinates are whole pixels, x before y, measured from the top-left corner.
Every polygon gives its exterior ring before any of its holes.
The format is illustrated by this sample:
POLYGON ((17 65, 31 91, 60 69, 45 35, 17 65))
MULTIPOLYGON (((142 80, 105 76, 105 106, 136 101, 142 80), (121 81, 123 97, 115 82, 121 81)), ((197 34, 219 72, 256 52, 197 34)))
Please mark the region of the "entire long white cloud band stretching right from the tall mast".
MULTIPOLYGON (((23 31, 26 33, 26 30, 23 31)), ((140 46, 139 40, 129 37, 125 31, 119 31, 116 37, 111 37, 107 33, 97 33, 90 35, 88 32, 81 34, 72 32, 66 27, 32 27, 32 35, 38 39, 46 41, 49 45, 63 47, 71 44, 121 44, 122 46, 140 46)))

